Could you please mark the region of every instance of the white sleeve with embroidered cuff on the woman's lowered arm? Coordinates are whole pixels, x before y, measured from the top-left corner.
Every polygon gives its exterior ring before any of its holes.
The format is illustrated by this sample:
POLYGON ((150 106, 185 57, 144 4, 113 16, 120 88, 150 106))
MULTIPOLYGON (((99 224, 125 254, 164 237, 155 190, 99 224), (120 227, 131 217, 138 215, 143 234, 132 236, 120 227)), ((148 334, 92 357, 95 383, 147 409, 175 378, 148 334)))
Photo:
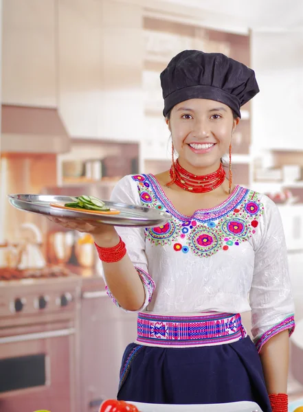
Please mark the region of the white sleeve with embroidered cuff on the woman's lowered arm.
POLYGON ((294 330, 294 303, 291 293, 287 248, 278 207, 264 196, 264 216, 258 228, 254 277, 249 301, 254 343, 260 352, 272 336, 294 330))

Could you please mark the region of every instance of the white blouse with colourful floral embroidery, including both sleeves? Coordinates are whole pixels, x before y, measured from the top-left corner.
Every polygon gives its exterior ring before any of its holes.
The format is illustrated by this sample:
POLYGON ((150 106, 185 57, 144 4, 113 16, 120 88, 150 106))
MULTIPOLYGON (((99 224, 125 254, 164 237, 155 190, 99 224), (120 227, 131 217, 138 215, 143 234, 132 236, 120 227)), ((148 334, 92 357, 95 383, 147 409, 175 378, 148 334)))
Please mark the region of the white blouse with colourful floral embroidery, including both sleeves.
POLYGON ((293 332, 284 231, 278 207, 267 196, 237 186, 221 205, 184 216, 155 176, 142 174, 125 176, 111 200, 172 215, 160 227, 116 228, 144 284, 146 299, 140 311, 251 310, 258 350, 274 334, 293 332))

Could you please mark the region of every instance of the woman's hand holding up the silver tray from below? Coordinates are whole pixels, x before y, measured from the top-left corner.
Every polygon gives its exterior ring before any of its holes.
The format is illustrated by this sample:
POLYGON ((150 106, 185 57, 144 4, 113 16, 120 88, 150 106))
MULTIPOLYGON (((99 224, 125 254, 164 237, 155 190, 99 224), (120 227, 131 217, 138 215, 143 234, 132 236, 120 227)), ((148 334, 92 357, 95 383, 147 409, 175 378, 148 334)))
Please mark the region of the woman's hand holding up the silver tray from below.
POLYGON ((113 247, 119 243, 119 235, 113 225, 103 225, 94 220, 66 219, 47 216, 49 220, 69 230, 90 233, 100 247, 113 247))

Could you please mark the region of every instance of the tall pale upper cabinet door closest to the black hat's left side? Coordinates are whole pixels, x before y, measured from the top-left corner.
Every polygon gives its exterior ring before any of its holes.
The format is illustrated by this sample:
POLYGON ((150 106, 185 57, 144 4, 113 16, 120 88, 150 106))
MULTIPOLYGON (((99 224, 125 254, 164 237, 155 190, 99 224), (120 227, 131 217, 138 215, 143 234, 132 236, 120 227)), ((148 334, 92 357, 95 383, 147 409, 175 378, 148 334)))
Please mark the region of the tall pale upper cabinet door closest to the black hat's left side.
POLYGON ((102 94, 98 135, 144 139, 143 10, 139 5, 102 0, 102 94))

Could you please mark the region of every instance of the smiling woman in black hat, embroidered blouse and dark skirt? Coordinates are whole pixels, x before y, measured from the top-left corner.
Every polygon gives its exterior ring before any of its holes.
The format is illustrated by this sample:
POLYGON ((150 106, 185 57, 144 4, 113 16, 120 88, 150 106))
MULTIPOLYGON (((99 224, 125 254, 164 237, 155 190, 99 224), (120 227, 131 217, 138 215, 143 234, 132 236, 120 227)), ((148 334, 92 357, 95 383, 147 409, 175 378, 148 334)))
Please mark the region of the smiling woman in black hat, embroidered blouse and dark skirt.
POLYGON ((294 307, 282 222, 267 196, 232 183, 232 135, 240 106, 259 91, 254 71, 223 54, 187 50, 161 73, 161 87, 172 167, 125 176, 112 200, 172 218, 148 229, 74 224, 93 234, 115 304, 139 312, 118 398, 251 400, 264 412, 286 412, 294 307), (250 309, 254 343, 239 314, 250 309))

